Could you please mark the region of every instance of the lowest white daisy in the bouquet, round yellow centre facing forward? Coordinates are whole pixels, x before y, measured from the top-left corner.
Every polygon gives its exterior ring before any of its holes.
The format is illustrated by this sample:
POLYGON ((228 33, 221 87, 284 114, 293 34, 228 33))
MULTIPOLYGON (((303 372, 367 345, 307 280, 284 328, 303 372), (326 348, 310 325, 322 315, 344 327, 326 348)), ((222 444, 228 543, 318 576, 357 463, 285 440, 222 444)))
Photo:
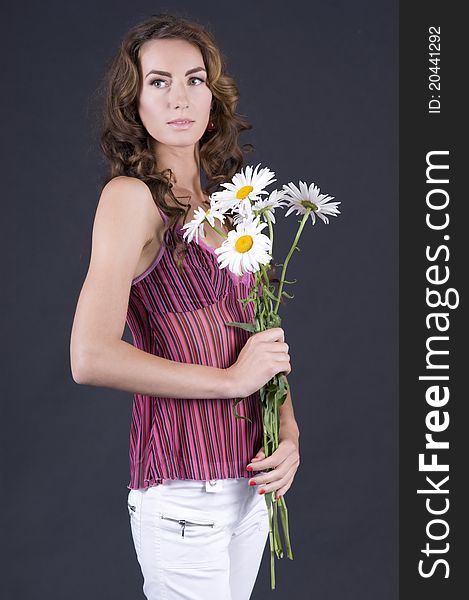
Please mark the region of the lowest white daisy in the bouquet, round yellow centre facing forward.
POLYGON ((272 244, 270 238, 261 233, 264 227, 267 223, 251 216, 229 231, 220 248, 215 249, 220 269, 228 266, 230 271, 241 276, 247 271, 255 273, 260 265, 268 264, 272 259, 272 244))

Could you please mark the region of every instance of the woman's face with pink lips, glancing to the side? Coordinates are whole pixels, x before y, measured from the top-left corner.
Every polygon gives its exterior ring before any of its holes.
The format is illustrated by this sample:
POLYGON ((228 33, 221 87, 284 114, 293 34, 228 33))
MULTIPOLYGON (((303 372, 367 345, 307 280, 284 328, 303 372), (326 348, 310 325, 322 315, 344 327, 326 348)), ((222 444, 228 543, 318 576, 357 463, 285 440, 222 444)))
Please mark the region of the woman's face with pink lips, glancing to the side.
POLYGON ((207 127, 212 101, 199 48, 180 39, 150 40, 140 49, 140 64, 138 112, 148 133, 160 144, 196 144, 207 127), (169 124, 174 119, 193 122, 169 124))

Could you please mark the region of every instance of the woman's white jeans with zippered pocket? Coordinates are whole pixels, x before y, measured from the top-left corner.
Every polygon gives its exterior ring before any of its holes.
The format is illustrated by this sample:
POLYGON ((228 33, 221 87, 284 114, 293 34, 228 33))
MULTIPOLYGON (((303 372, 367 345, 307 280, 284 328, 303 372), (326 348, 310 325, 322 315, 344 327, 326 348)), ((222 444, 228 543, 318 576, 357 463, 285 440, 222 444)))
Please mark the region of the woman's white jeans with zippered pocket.
POLYGON ((248 600, 269 534, 249 479, 165 480, 130 490, 132 538, 148 600, 248 600))

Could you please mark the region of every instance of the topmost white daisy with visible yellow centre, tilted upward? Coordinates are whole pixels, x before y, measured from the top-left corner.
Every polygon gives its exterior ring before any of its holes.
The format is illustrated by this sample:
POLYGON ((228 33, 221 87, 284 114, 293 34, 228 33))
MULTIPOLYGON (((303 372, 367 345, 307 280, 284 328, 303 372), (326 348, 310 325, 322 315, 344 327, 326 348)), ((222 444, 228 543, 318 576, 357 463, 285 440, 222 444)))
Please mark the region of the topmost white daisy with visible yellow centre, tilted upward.
POLYGON ((261 194, 267 194, 265 187, 277 181, 273 179, 275 173, 264 167, 260 171, 259 163, 254 171, 251 166, 247 166, 245 172, 241 169, 240 173, 236 173, 230 183, 222 183, 226 188, 221 192, 214 192, 214 198, 222 210, 233 210, 239 212, 244 217, 252 214, 251 203, 261 199, 261 194))

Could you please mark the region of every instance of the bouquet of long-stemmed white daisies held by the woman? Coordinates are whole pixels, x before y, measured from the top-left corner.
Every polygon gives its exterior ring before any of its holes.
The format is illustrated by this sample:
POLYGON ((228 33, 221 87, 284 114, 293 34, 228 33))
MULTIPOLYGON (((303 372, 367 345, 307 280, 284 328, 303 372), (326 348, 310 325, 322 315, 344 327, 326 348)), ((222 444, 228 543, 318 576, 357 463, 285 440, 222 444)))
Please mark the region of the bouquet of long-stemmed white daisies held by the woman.
MULTIPOLYGON (((247 298, 240 299, 241 302, 254 302, 254 323, 226 323, 233 327, 241 327, 252 333, 264 331, 271 327, 280 327, 281 318, 278 314, 281 298, 293 298, 283 287, 295 281, 285 279, 287 266, 294 250, 299 250, 297 244, 301 233, 311 217, 313 225, 316 217, 324 223, 329 223, 328 216, 340 214, 337 206, 340 202, 330 202, 333 199, 326 194, 320 194, 319 188, 311 183, 309 186, 300 181, 297 187, 293 183, 284 185, 282 190, 275 189, 267 192, 265 188, 274 181, 275 173, 264 167, 259 169, 260 164, 253 170, 247 166, 245 171, 236 173, 230 183, 222 184, 225 190, 215 192, 210 196, 210 208, 204 211, 198 208, 194 213, 192 221, 187 223, 184 238, 199 241, 199 235, 204 237, 204 223, 208 222, 222 237, 226 238, 220 248, 215 249, 217 261, 221 269, 228 268, 238 276, 250 271, 255 274, 256 285, 252 287, 247 298), (267 197, 263 197, 267 195, 267 197), (269 278, 269 270, 273 261, 275 210, 285 208, 288 210, 285 216, 293 211, 302 215, 299 227, 295 234, 291 248, 284 263, 275 264, 282 266, 282 273, 278 288, 269 278), (235 229, 226 235, 215 225, 215 219, 224 222, 225 216, 232 217, 235 229), (268 235, 262 230, 268 228, 268 235)), ((275 375, 260 390, 262 403, 262 420, 264 435, 264 454, 266 457, 275 452, 279 446, 279 409, 288 395, 289 385, 283 374, 275 375)), ((245 418, 236 413, 236 405, 242 398, 233 402, 233 412, 237 418, 245 418)), ((275 589, 275 556, 283 558, 283 547, 280 540, 278 527, 278 515, 282 523, 285 538, 286 552, 290 559, 293 553, 290 544, 288 530, 288 511, 285 499, 281 496, 275 497, 275 492, 265 494, 269 513, 269 539, 271 556, 271 584, 275 589)))

